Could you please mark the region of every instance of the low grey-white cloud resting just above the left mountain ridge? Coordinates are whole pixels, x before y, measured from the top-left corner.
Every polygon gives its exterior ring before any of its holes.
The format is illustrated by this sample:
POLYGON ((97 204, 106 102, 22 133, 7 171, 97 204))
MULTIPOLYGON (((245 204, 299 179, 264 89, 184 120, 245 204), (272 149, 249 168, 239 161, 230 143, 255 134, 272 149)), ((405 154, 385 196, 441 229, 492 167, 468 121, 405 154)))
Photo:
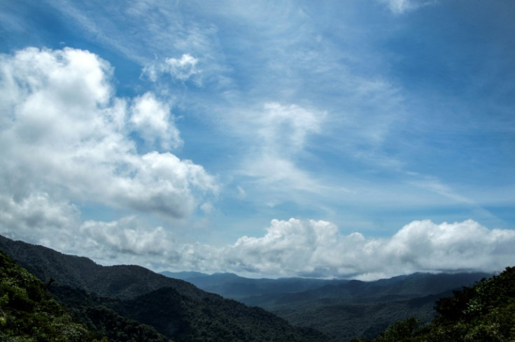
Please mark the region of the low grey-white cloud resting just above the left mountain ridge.
POLYGON ((80 220, 80 211, 69 202, 33 193, 20 201, 0 195, 0 234, 41 244, 63 253, 86 255, 104 265, 152 266, 153 258, 174 260, 174 237, 136 216, 115 221, 80 220))

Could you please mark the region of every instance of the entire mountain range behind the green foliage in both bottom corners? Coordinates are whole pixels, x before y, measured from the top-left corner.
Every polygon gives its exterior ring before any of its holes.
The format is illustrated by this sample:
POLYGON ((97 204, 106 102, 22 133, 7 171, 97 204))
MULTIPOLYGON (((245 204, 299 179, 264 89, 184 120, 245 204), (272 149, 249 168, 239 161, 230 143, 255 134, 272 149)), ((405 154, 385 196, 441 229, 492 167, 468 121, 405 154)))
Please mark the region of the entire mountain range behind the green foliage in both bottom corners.
POLYGON ((80 324, 108 341, 372 339, 397 320, 429 322, 437 299, 489 276, 411 274, 355 281, 157 274, 134 265, 105 267, 1 236, 0 250, 50 285, 80 324))

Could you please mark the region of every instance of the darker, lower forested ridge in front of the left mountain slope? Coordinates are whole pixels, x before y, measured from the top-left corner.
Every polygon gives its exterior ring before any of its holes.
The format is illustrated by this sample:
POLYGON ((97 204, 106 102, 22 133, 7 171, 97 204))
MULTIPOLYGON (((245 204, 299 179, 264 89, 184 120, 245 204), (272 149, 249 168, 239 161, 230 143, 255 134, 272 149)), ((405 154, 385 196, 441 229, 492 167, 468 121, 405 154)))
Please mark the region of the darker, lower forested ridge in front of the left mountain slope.
POLYGON ((330 341, 261 308, 216 295, 191 298, 174 288, 162 288, 126 300, 59 286, 52 292, 109 341, 330 341))

